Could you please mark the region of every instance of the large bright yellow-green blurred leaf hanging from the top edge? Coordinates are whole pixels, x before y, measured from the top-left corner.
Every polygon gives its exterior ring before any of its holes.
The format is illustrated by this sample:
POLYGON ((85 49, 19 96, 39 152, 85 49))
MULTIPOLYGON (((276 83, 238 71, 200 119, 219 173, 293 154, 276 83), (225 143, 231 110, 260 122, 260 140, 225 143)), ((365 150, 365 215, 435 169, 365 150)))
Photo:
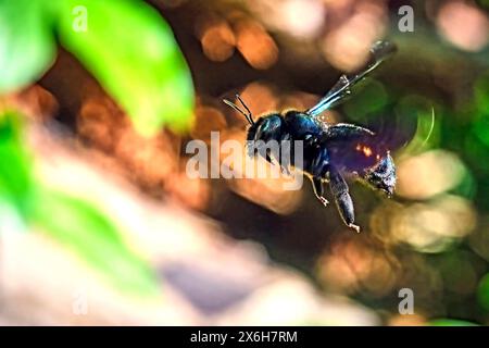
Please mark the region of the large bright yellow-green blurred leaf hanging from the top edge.
POLYGON ((152 135, 190 126, 193 87, 170 26, 136 0, 57 1, 61 44, 152 135))

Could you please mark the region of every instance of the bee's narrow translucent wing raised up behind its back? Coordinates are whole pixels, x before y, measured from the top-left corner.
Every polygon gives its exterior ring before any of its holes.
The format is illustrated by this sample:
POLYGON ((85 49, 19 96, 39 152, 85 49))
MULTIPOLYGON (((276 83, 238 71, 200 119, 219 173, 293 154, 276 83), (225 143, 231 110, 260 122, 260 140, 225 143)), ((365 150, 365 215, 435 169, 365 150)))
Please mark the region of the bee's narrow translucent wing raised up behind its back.
POLYGON ((317 117, 324 111, 343 101, 350 94, 351 87, 362 80, 365 75, 375 70, 383 61, 396 51, 396 45, 389 41, 377 41, 371 48, 371 60, 364 69, 352 75, 341 75, 335 86, 319 100, 317 104, 306 110, 305 113, 317 117))

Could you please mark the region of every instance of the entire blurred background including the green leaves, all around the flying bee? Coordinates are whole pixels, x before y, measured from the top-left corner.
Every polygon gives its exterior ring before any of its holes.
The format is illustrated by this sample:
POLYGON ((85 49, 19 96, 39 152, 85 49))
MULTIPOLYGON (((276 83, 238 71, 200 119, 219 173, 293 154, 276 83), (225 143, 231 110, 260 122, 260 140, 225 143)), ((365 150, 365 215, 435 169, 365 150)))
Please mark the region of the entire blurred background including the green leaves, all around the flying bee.
POLYGON ((51 2, 0 3, 0 324, 489 323, 488 1, 51 2), (324 115, 398 166, 390 200, 351 182, 360 235, 309 183, 186 175, 246 137, 223 98, 306 109, 385 38, 324 115))

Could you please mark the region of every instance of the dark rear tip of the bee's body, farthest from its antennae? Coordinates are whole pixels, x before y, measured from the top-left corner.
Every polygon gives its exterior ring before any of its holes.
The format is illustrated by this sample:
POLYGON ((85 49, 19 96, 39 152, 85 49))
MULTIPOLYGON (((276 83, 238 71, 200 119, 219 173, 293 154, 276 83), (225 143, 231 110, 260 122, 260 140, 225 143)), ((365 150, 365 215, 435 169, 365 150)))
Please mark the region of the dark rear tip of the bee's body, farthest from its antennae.
POLYGON ((389 197, 392 196, 396 188, 396 165, 390 153, 387 152, 376 166, 364 171, 361 176, 373 188, 385 191, 389 197))

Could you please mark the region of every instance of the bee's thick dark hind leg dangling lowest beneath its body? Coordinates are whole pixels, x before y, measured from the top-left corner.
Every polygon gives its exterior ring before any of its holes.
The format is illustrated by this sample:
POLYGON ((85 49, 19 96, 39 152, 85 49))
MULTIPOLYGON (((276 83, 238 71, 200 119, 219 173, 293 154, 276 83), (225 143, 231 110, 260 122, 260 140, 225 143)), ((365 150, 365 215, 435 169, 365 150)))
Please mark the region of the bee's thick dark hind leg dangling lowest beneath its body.
POLYGON ((355 212, 347 182, 335 169, 329 171, 329 188, 335 197, 336 206, 344 224, 356 231, 356 233, 360 233, 360 227, 354 224, 355 212))

